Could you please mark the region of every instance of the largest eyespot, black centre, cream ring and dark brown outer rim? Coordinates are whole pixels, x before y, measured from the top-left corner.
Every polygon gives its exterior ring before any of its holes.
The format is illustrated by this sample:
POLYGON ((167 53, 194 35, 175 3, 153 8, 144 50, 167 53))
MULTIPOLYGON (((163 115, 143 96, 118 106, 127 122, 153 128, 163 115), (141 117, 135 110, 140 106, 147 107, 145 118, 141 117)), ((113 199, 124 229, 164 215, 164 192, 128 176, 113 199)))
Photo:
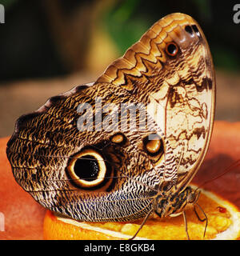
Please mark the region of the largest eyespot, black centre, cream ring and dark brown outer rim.
POLYGON ((92 148, 71 156, 66 167, 70 182, 82 190, 106 190, 112 182, 112 172, 104 156, 92 148))

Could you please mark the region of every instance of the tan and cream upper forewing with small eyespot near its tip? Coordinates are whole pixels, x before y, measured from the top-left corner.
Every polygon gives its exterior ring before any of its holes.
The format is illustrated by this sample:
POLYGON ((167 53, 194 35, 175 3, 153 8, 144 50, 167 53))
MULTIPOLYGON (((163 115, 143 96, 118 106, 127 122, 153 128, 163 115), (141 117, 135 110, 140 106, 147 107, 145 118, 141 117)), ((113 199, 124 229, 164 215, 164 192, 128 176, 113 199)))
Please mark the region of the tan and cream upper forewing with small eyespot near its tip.
POLYGON ((206 154, 214 120, 215 78, 198 23, 170 14, 154 24, 98 78, 134 94, 166 137, 166 181, 186 186, 206 154))

